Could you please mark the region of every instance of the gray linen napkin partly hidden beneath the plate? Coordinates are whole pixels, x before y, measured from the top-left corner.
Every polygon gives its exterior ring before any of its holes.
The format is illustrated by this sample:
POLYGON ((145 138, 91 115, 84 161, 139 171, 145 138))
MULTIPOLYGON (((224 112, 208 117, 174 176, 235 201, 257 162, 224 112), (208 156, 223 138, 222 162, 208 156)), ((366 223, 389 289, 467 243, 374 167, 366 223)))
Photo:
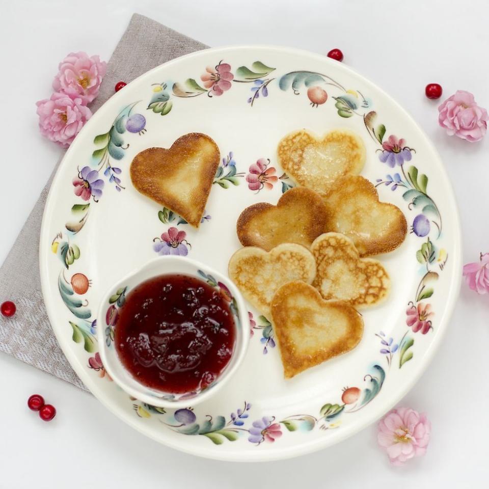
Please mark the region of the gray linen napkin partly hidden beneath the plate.
MULTIPOLYGON (((152 19, 134 14, 107 64, 92 112, 114 94, 119 80, 129 83, 155 66, 206 47, 152 19)), ((0 302, 8 299, 17 305, 13 317, 0 315, 0 351, 86 389, 58 345, 41 294, 39 234, 53 175, 0 268, 0 302)))

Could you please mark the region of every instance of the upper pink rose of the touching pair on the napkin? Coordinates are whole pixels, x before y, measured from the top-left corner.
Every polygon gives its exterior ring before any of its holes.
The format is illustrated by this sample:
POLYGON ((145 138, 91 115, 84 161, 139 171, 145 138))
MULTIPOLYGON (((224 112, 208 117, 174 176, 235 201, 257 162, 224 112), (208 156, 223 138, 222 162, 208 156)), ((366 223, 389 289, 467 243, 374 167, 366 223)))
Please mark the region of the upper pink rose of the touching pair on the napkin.
POLYGON ((89 58, 83 51, 70 52, 60 63, 52 88, 73 98, 80 97, 86 105, 98 95, 105 67, 105 61, 100 61, 98 56, 89 58))

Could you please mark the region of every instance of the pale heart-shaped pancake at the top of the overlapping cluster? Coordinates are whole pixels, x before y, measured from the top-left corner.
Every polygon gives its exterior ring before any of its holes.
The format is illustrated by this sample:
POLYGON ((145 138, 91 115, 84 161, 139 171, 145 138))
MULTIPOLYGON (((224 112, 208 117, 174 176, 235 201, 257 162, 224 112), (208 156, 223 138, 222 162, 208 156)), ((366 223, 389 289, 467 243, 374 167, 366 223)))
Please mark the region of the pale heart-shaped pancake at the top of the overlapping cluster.
POLYGON ((346 129, 317 138, 305 129, 283 138, 277 148, 281 167, 295 182, 324 196, 344 175, 358 175, 365 164, 365 145, 346 129))

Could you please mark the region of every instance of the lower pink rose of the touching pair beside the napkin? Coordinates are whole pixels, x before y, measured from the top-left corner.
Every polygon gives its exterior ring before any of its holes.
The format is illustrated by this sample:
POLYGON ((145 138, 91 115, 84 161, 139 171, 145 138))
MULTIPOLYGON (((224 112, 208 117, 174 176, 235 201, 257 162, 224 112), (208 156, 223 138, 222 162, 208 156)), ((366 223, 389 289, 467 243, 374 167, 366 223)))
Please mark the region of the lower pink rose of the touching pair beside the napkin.
POLYGON ((41 134, 67 148, 92 113, 81 98, 53 93, 51 98, 36 102, 41 134))

